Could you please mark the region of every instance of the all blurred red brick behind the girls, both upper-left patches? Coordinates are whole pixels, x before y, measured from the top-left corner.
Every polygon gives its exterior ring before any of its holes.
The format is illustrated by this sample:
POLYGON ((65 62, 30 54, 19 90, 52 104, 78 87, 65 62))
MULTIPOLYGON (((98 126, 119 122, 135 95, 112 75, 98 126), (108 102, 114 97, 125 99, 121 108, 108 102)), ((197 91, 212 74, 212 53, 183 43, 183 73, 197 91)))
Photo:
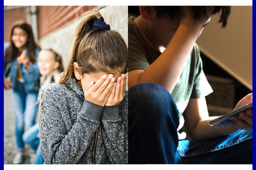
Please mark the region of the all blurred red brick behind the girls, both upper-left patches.
MULTIPOLYGON (((95 6, 37 6, 38 38, 44 37, 57 28, 81 16, 95 6), (79 9, 78 11, 76 11, 79 9), (71 16, 67 17, 70 13, 71 16), (66 17, 66 18, 65 18, 66 17), (63 20, 63 18, 65 18, 63 20)), ((26 7, 4 11, 4 41, 10 39, 10 29, 17 20, 26 20, 26 7), (21 12, 22 11, 22 14, 21 12)))

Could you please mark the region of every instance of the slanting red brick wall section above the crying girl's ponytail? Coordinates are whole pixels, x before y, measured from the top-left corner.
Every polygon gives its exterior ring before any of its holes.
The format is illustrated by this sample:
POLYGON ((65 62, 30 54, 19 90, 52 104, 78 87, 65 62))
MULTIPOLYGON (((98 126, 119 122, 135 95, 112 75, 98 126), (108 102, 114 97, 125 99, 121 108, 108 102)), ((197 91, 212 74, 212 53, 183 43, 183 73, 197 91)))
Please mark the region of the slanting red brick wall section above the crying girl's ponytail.
POLYGON ((37 6, 38 38, 46 36, 94 6, 37 6))

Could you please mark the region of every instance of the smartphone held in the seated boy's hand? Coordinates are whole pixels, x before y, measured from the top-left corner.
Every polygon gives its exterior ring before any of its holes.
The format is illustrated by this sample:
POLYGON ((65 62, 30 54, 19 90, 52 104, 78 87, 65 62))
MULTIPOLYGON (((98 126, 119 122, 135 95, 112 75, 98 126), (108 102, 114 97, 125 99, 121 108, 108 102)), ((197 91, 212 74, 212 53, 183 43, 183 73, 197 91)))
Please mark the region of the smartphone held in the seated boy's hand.
POLYGON ((242 106, 241 108, 238 108, 230 113, 224 114, 223 116, 218 117, 217 119, 214 119, 209 122, 209 125, 211 126, 227 126, 233 121, 233 116, 244 112, 246 110, 253 109, 253 102, 250 102, 247 105, 242 106))

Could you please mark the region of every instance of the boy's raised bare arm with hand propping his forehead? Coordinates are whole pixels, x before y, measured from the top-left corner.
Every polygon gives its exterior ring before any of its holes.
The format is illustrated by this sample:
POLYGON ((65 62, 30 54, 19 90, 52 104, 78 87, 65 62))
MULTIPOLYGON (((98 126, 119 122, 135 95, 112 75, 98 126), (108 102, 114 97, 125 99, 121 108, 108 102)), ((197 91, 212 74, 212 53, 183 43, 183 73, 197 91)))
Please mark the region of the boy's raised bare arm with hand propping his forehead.
POLYGON ((142 82, 153 82, 172 92, 206 21, 207 19, 194 21, 189 15, 183 17, 165 51, 145 71, 129 71, 128 87, 142 82))

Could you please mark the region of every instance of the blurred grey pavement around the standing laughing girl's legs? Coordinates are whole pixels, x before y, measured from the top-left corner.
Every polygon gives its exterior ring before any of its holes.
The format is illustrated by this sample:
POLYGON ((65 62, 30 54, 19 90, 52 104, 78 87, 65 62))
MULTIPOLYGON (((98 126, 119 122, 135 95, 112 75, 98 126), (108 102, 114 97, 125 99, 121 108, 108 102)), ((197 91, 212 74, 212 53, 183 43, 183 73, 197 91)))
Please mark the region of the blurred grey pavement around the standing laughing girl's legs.
MULTIPOLYGON (((12 107, 12 91, 4 90, 4 164, 12 164, 17 152, 15 139, 15 119, 12 107)), ((29 164, 29 146, 25 146, 23 164, 29 164)))

